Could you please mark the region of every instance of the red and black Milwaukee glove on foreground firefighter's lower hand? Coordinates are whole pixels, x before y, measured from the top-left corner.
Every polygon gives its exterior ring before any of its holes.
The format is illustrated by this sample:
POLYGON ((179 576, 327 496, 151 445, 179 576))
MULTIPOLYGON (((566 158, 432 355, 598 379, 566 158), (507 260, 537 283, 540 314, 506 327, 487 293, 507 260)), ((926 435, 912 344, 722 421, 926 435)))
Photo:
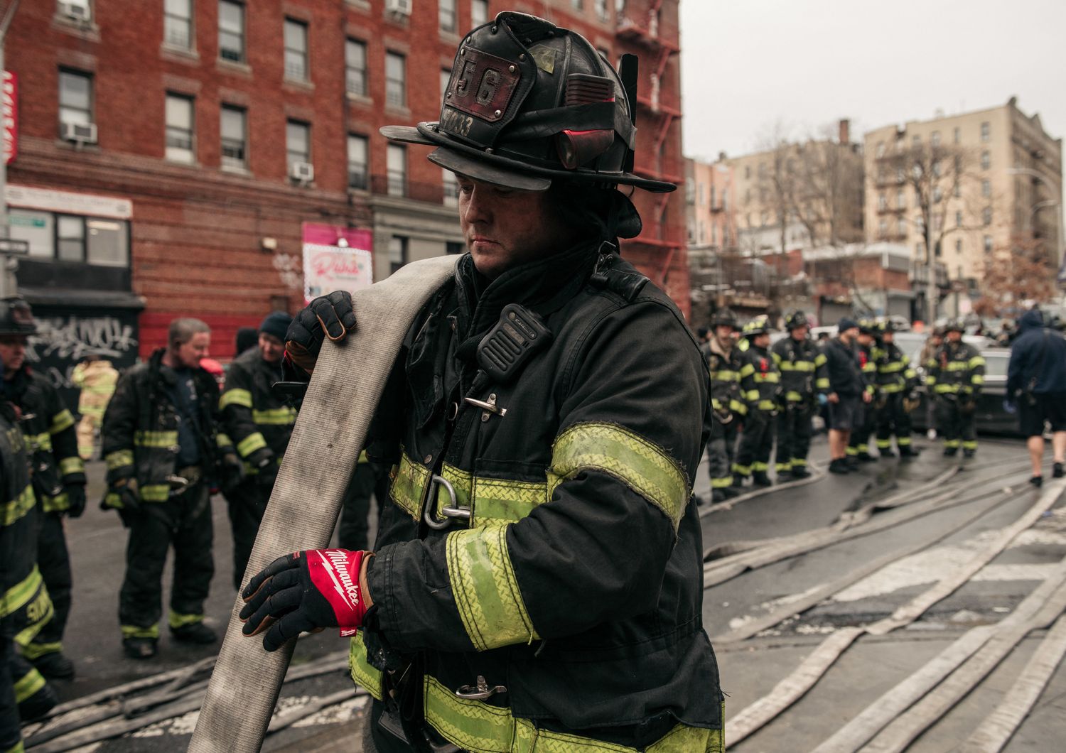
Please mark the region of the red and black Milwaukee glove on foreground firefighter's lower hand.
POLYGON ((359 572, 370 552, 307 550, 278 557, 248 582, 241 593, 242 632, 266 631, 263 648, 276 651, 301 633, 340 627, 340 637, 355 635, 367 604, 359 590, 359 572))

